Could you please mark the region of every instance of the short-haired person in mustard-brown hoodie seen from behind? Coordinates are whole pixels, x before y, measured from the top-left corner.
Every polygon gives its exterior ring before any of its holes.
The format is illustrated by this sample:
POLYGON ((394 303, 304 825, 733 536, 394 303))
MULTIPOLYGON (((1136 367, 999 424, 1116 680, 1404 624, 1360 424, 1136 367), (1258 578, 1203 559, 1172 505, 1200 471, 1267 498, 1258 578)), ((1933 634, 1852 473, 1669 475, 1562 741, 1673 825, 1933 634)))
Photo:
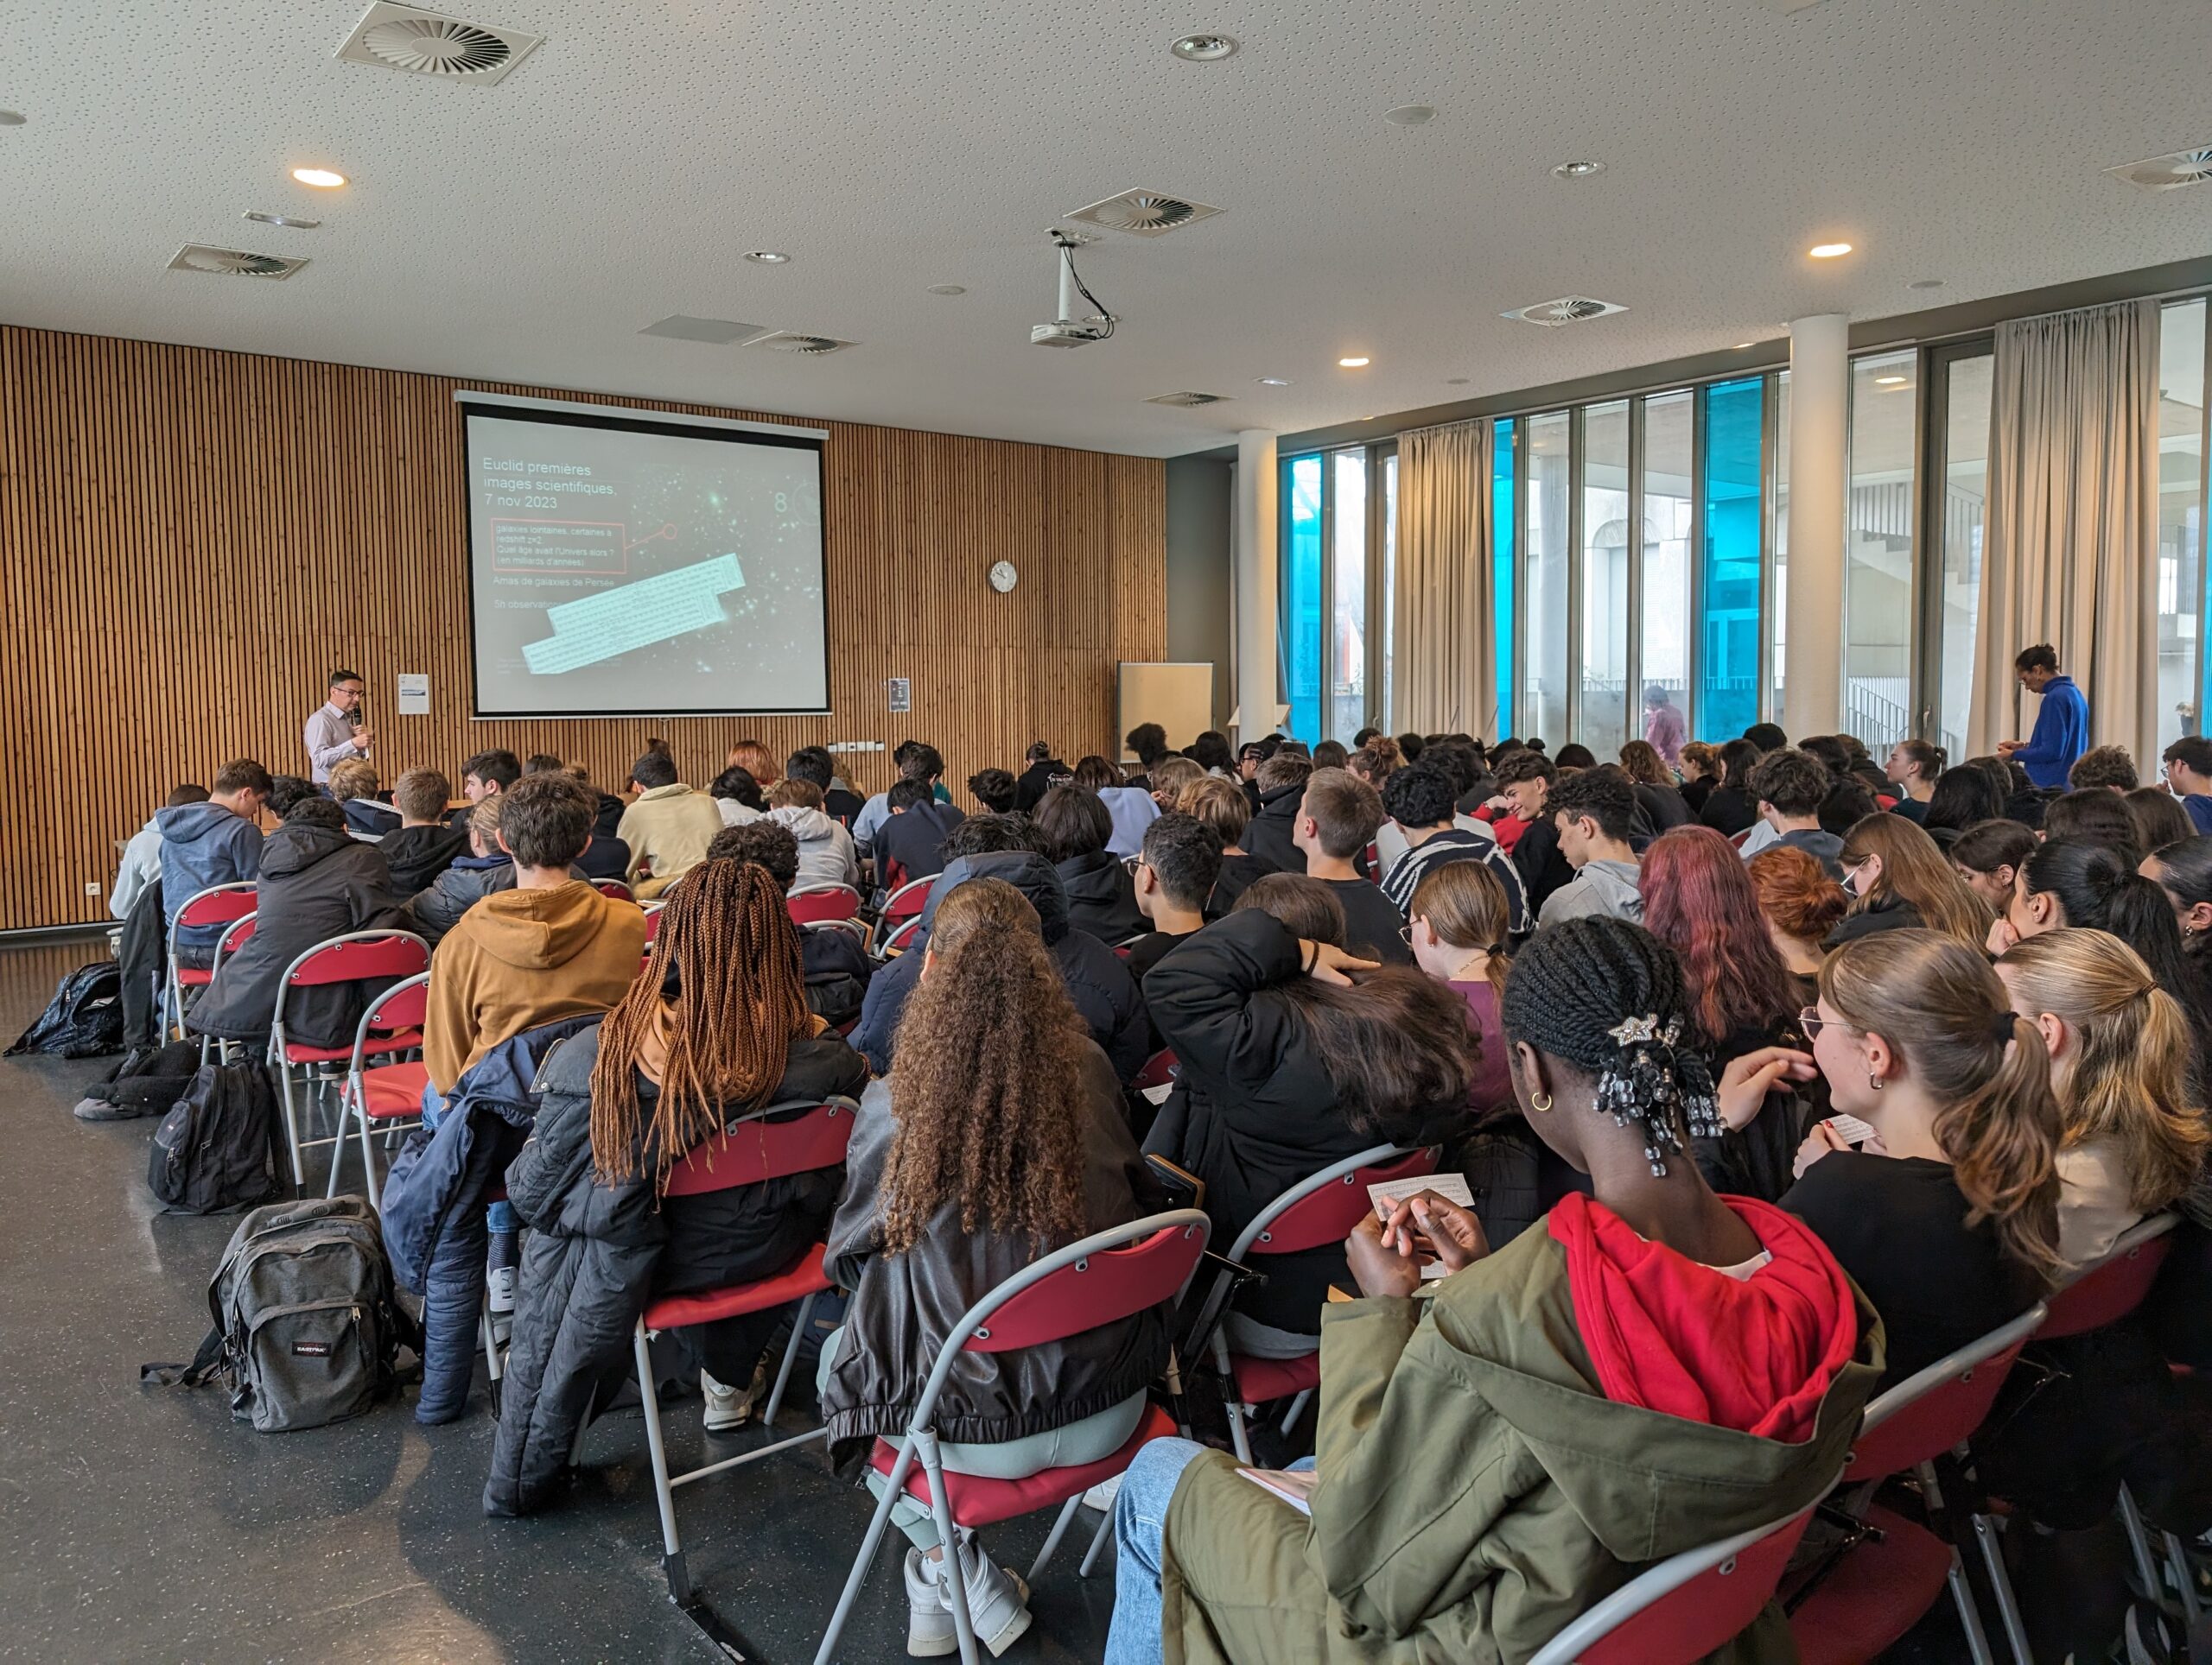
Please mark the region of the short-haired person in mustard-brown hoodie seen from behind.
POLYGON ((422 1064, 440 1099, 500 1041, 608 1010, 646 951, 635 904, 568 876, 591 840, 591 789, 533 774, 500 796, 500 849, 515 860, 515 882, 462 913, 429 962, 422 1064))

